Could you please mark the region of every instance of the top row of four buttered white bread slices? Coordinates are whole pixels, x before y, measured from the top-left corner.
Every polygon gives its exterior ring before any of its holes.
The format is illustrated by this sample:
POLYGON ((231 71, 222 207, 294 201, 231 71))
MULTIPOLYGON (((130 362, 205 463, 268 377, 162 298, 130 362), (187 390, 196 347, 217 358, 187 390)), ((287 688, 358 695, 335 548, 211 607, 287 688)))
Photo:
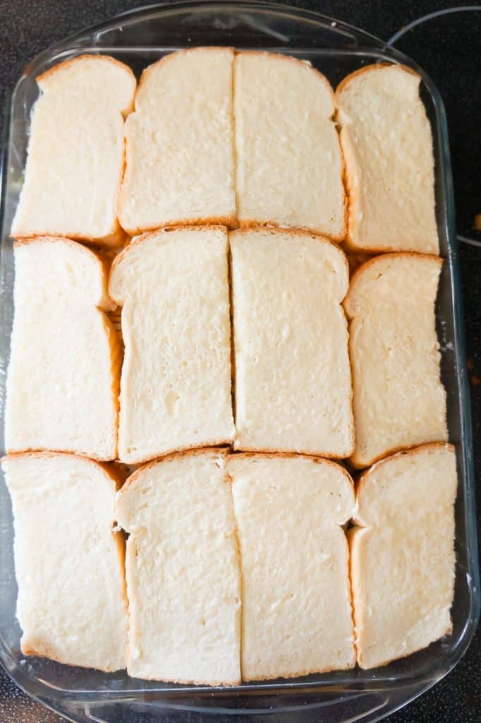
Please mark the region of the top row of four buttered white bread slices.
POLYGON ((157 61, 136 86, 120 62, 79 56, 38 77, 12 234, 116 245, 122 229, 272 224, 437 254, 419 84, 378 64, 334 95, 306 62, 194 48, 157 61))

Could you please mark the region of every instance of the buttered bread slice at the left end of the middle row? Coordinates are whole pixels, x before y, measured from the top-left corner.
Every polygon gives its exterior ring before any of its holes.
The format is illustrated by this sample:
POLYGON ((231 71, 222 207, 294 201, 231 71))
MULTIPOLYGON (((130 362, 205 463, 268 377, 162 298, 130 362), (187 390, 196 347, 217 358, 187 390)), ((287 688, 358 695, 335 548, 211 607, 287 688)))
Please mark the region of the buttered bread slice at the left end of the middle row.
POLYGON ((17 241, 14 259, 6 450, 115 459, 121 350, 103 262, 50 236, 17 241))

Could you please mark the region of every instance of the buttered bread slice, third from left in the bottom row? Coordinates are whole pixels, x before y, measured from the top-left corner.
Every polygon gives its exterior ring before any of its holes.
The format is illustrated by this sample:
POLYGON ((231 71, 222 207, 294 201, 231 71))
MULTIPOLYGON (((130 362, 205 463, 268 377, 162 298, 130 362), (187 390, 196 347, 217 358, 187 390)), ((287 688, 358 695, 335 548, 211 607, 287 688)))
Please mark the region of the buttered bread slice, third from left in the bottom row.
POLYGON ((232 455, 243 680, 354 666, 347 471, 320 458, 232 455))

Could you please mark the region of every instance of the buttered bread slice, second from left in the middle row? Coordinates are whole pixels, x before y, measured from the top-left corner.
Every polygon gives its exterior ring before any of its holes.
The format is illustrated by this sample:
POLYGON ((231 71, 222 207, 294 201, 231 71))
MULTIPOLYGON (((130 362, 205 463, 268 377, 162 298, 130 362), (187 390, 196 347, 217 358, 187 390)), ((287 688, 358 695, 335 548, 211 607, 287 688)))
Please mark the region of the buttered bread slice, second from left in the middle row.
POLYGON ((121 461, 232 441, 225 228, 139 236, 113 262, 110 295, 123 307, 121 461))

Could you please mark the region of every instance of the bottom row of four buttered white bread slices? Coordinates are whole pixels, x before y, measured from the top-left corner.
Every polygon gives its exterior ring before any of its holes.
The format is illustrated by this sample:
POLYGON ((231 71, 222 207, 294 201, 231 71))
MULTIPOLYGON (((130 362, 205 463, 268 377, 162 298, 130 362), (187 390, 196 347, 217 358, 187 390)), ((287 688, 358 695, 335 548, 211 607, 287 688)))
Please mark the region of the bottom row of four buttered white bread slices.
POLYGON ((75 455, 2 466, 24 654, 235 685, 378 667, 451 630, 451 445, 376 463, 356 494, 302 455, 178 453, 118 492, 111 466, 75 455))

